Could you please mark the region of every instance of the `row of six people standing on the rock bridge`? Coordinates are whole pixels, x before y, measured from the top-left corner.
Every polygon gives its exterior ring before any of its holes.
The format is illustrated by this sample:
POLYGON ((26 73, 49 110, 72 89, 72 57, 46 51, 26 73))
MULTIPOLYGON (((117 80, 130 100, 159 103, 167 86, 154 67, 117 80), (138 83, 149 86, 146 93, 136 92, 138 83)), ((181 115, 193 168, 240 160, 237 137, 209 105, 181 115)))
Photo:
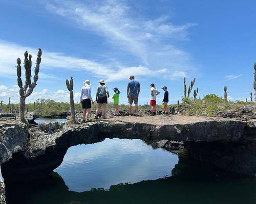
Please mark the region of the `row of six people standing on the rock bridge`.
MULTIPOLYGON (((140 93, 140 83, 135 80, 134 75, 130 76, 130 82, 127 85, 127 98, 129 101, 129 116, 132 116, 132 104, 135 104, 135 116, 139 116, 138 114, 138 97, 140 93)), ((97 87, 96 92, 96 103, 98 107, 95 112, 95 119, 98 119, 99 110, 102 109, 102 117, 105 119, 105 109, 106 104, 108 103, 108 98, 110 97, 110 93, 108 87, 105 85, 104 80, 99 81, 100 85, 97 87)), ((89 113, 92 108, 92 104, 94 103, 92 96, 91 96, 91 84, 89 80, 83 82, 84 86, 81 89, 81 96, 80 96, 80 103, 82 104, 83 108, 83 120, 82 122, 91 122, 89 119, 89 113)), ((156 88, 155 84, 151 84, 151 114, 156 115, 156 96, 160 93, 156 88)), ((164 86, 162 88, 164 90, 164 98, 163 98, 163 108, 164 113, 168 114, 168 91, 167 87, 164 86)), ((113 103, 115 107, 115 116, 119 115, 119 94, 120 91, 117 87, 113 88, 114 95, 113 95, 113 103)))

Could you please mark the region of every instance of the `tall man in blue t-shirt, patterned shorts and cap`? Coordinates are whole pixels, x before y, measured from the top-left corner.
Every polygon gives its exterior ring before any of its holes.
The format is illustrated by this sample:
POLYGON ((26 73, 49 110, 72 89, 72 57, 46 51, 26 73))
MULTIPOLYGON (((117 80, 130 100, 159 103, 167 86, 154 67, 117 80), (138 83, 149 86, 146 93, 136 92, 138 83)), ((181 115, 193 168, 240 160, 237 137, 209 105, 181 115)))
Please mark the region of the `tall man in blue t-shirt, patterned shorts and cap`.
POLYGON ((134 80, 134 75, 130 76, 130 82, 127 86, 127 98, 129 100, 129 116, 132 115, 132 104, 135 104, 136 116, 138 115, 138 97, 140 93, 140 83, 134 80))

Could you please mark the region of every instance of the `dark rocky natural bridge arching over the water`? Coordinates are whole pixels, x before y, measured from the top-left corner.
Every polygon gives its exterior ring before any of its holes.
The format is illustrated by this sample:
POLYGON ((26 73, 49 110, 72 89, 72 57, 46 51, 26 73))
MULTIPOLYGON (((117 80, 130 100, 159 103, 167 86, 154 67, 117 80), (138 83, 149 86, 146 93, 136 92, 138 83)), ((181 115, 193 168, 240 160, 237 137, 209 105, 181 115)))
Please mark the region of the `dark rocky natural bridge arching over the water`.
POLYGON ((141 139, 152 146, 177 150, 219 168, 255 176, 256 120, 195 116, 120 116, 83 123, 26 126, 0 121, 0 162, 7 180, 37 179, 57 168, 70 146, 105 138, 141 139))

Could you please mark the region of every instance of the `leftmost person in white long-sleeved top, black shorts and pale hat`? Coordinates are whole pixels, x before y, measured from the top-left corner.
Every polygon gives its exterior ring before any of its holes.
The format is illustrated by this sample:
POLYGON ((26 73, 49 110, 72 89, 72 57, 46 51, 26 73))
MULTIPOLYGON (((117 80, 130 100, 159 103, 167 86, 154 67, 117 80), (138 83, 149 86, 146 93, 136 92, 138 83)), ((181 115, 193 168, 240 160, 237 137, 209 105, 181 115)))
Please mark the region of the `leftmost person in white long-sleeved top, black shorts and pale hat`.
POLYGON ((88 119, 90 110, 92 108, 93 99, 91 96, 91 84, 89 80, 83 82, 84 86, 81 89, 80 103, 83 108, 83 120, 82 122, 91 122, 92 120, 88 119))

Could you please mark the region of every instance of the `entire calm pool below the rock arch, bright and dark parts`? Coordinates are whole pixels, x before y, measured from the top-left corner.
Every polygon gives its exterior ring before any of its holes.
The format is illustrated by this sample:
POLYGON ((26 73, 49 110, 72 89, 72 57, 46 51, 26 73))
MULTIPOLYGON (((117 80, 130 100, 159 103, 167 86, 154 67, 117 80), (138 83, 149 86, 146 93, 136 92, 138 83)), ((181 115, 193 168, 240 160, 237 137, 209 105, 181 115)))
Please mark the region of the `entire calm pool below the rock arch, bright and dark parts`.
POLYGON ((141 140, 114 138, 69 148, 49 179, 6 182, 6 194, 7 204, 255 204, 256 182, 141 140))

